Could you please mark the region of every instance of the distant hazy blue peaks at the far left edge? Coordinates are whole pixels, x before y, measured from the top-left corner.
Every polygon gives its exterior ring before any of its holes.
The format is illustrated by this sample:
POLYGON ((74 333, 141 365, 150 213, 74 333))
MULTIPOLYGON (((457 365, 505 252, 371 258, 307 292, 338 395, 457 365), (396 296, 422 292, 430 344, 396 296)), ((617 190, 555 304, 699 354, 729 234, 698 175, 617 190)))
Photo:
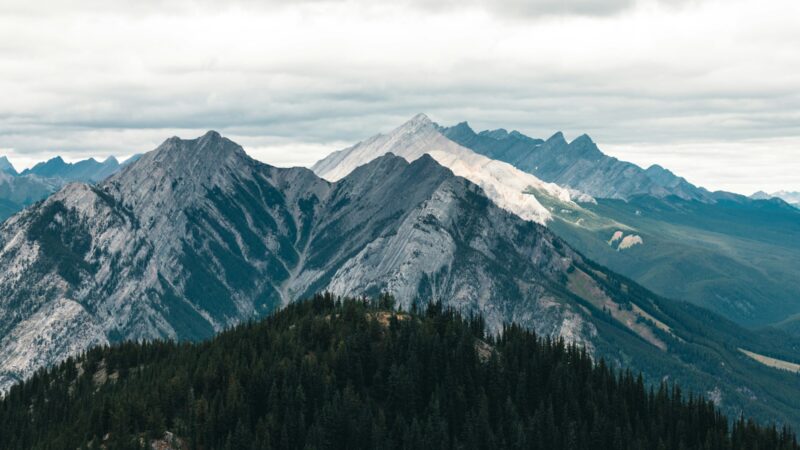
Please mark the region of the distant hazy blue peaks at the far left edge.
POLYGON ((36 164, 18 174, 6 157, 0 158, 0 222, 73 181, 96 183, 136 161, 120 164, 113 156, 103 162, 87 159, 66 163, 61 157, 36 164), (4 169, 5 167, 5 169, 4 169))

